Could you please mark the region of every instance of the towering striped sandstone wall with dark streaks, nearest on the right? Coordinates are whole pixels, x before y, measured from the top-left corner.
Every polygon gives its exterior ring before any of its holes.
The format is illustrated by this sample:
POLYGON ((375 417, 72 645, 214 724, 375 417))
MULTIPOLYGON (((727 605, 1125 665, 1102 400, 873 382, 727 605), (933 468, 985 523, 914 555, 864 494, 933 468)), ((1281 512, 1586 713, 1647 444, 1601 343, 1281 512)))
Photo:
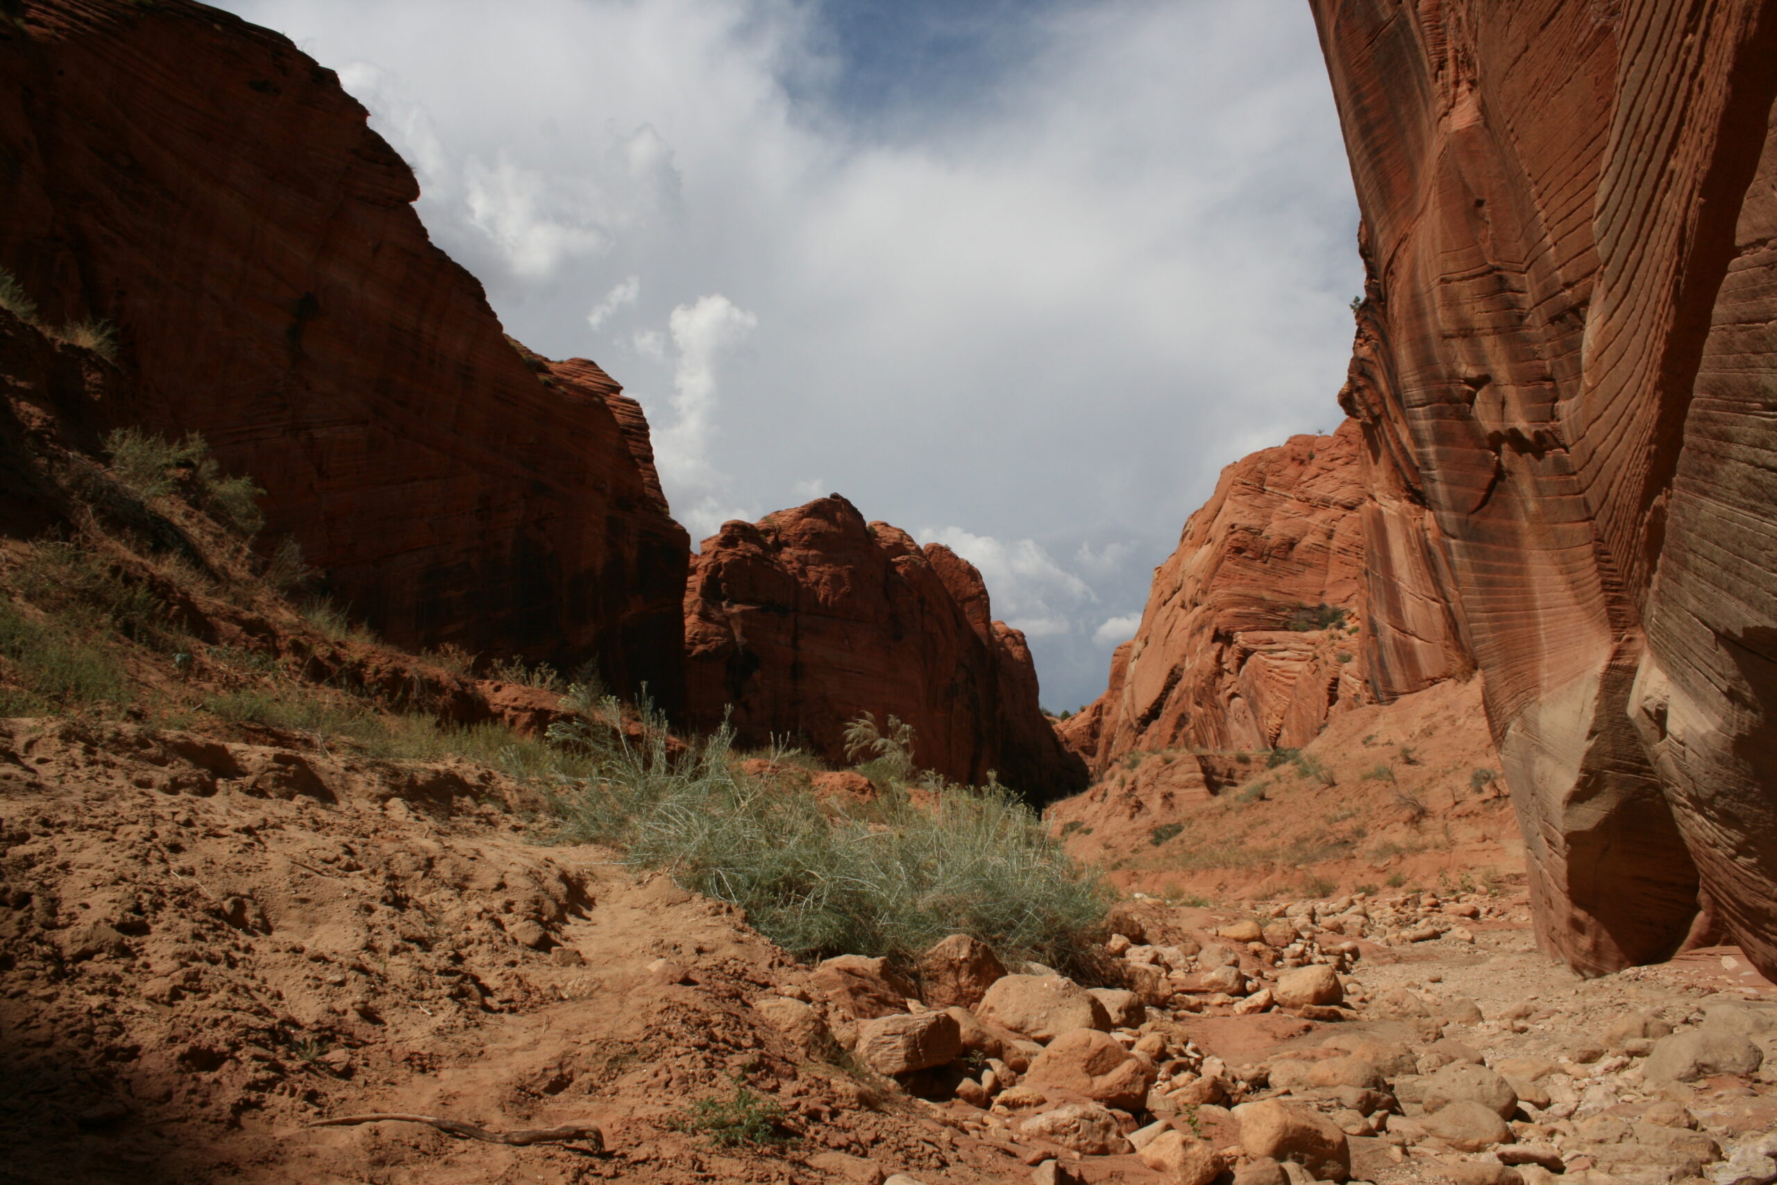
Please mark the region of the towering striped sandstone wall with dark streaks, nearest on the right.
POLYGON ((1656 959, 1701 887, 1772 974, 1777 4, 1313 11, 1370 268, 1342 402, 1486 673, 1541 940, 1656 959))

